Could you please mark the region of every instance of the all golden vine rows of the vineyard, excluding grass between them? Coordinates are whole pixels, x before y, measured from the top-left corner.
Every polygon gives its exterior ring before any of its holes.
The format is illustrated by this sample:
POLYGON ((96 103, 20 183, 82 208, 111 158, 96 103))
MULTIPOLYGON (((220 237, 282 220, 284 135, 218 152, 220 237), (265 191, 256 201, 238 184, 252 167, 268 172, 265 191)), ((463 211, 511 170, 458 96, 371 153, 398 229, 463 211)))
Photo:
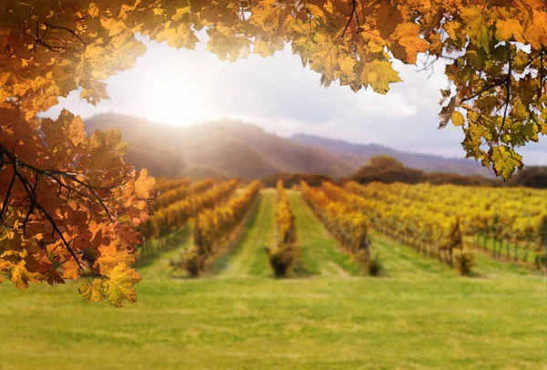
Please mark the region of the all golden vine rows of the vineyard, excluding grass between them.
MULTIPOLYGON (((235 231, 262 185, 254 181, 239 187, 236 192, 236 180, 160 180, 155 213, 141 227, 149 240, 145 246, 172 243, 177 232, 191 234, 191 248, 171 264, 198 276, 218 255, 230 252, 235 231)), ((287 191, 279 180, 274 236, 261 246, 278 277, 302 270, 303 262, 287 191)), ((360 266, 363 275, 382 269, 371 232, 405 244, 420 258, 446 263, 461 275, 475 273, 478 253, 530 271, 545 266, 547 198, 542 190, 327 181, 311 187, 302 181, 297 191, 335 239, 338 252, 360 266)))

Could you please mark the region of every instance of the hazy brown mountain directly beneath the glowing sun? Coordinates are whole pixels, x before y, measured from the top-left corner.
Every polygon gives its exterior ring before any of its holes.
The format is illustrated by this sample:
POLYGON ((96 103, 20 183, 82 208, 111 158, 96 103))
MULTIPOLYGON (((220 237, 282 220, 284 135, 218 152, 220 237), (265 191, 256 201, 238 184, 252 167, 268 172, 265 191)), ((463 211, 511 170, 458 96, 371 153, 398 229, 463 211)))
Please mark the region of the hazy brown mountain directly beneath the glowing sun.
POLYGON ((86 131, 120 128, 125 159, 154 176, 262 179, 279 172, 346 177, 358 166, 342 156, 234 121, 171 127, 108 113, 85 120, 86 131))

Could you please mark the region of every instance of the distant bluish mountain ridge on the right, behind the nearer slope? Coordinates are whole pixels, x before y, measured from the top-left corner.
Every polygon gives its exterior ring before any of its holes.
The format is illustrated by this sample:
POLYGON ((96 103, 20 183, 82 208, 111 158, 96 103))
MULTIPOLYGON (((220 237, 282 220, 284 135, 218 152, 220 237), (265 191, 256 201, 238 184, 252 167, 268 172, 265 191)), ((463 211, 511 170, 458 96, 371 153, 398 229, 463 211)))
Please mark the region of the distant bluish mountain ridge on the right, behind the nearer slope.
POLYGON ((455 159, 430 154, 398 151, 377 144, 354 144, 344 140, 326 139, 314 135, 298 134, 291 138, 294 142, 325 149, 345 159, 351 166, 360 167, 375 155, 395 157, 407 167, 427 172, 449 172, 461 175, 481 175, 493 177, 490 170, 485 169, 473 159, 455 159))

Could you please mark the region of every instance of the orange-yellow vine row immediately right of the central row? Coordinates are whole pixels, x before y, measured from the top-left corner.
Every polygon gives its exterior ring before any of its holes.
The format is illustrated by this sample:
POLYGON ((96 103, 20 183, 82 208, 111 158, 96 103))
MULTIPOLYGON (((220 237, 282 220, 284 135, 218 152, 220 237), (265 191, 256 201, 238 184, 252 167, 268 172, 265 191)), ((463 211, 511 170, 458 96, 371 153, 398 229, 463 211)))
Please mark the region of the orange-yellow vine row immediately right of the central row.
POLYGON ((322 189, 313 189, 304 181, 302 194, 317 216, 323 221, 338 242, 352 253, 368 251, 368 218, 364 213, 353 210, 346 202, 329 198, 322 189))

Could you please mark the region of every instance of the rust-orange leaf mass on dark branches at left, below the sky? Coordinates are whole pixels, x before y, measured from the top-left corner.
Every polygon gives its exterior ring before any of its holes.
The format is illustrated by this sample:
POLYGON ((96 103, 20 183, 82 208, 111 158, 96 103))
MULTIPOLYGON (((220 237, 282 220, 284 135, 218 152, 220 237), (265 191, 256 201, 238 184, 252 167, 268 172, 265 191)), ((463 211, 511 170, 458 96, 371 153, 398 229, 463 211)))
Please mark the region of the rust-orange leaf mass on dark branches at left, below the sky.
POLYGON ((107 280, 85 298, 120 305, 112 287, 123 271, 133 301, 130 285, 139 279, 129 266, 142 242, 135 229, 149 216, 155 180, 121 159, 119 131, 87 137, 81 119, 63 110, 57 121, 41 121, 44 142, 16 109, 1 109, 0 120, 0 283, 6 274, 19 288, 56 285, 88 269, 107 280), (93 265, 84 253, 97 256, 93 265))

